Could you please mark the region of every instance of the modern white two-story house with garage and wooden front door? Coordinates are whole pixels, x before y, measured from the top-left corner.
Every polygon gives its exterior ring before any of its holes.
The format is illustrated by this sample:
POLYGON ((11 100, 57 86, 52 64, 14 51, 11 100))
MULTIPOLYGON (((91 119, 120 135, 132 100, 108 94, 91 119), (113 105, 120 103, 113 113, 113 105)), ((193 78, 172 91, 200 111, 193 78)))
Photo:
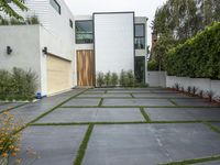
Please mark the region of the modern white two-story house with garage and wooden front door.
POLYGON ((134 12, 74 16, 63 0, 25 4, 28 12, 11 6, 24 18, 37 15, 40 24, 0 26, 0 68, 31 68, 38 75, 42 95, 96 86, 99 72, 133 70, 140 81, 147 81, 145 16, 135 18, 134 12))

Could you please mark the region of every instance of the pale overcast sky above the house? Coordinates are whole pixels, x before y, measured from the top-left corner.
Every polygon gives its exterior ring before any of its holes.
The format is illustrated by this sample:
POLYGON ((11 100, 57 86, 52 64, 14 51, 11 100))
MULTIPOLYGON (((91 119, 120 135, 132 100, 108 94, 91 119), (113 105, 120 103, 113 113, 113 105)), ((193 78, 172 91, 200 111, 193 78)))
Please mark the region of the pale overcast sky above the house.
POLYGON ((151 44, 151 22, 156 9, 166 0, 65 0, 74 15, 90 15, 103 11, 134 11, 136 16, 148 18, 147 43, 151 44))

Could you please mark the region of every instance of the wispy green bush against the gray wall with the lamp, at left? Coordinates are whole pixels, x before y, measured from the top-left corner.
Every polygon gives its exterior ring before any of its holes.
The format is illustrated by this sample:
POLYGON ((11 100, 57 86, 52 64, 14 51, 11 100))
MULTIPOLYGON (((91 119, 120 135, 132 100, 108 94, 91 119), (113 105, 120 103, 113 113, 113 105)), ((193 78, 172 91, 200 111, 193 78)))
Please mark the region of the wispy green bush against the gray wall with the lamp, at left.
POLYGON ((37 76, 31 70, 0 70, 0 100, 32 100, 37 89, 37 76))

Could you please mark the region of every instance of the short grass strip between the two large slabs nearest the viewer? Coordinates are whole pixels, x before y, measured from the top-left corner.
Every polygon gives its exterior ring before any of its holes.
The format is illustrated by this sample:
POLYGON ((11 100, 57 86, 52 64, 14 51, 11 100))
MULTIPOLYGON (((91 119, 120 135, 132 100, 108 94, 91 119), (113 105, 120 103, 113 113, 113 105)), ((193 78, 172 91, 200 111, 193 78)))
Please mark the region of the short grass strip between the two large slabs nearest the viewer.
POLYGON ((77 156, 74 161, 74 165, 81 165, 81 162, 84 160, 84 156, 85 156, 85 153, 86 153, 86 148, 87 148, 87 145, 88 145, 88 142, 89 142, 89 139, 90 139, 90 135, 91 135, 91 132, 94 130, 94 124, 89 124, 88 129, 87 129, 87 132, 84 136, 84 140, 79 146, 79 150, 77 152, 77 156))

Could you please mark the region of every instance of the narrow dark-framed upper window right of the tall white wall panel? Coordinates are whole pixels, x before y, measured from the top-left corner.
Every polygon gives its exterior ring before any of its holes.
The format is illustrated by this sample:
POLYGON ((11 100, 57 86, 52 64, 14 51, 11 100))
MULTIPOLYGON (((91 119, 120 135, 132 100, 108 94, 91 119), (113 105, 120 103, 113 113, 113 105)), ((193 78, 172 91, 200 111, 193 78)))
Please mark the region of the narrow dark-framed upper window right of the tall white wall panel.
POLYGON ((145 50, 145 24, 135 24, 135 50, 145 50))

